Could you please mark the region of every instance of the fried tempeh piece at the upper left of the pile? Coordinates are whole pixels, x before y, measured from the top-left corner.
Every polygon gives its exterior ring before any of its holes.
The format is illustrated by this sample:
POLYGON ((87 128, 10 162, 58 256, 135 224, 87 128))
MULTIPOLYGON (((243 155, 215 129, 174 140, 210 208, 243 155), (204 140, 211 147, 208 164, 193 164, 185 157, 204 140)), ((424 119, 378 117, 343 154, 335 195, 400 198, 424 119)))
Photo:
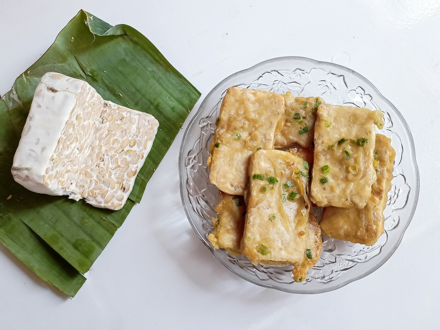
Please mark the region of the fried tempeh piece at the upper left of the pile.
POLYGON ((275 130, 282 126, 283 114, 281 95, 228 88, 209 148, 211 183, 227 194, 243 195, 249 157, 259 149, 273 149, 275 130))

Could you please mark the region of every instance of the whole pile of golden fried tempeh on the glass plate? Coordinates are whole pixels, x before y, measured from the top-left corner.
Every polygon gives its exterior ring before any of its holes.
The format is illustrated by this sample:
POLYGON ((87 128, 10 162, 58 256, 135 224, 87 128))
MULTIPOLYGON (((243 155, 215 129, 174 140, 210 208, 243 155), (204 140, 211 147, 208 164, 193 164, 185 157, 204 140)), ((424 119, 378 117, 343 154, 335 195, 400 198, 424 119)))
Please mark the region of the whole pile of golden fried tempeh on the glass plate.
POLYGON ((208 159, 209 180, 223 194, 213 246, 255 265, 293 265, 301 282, 319 260, 321 229, 376 242, 394 159, 390 139, 375 134, 381 116, 319 97, 229 88, 208 159), (300 148, 274 149, 294 146, 300 148), (321 228, 312 202, 326 207, 321 228))

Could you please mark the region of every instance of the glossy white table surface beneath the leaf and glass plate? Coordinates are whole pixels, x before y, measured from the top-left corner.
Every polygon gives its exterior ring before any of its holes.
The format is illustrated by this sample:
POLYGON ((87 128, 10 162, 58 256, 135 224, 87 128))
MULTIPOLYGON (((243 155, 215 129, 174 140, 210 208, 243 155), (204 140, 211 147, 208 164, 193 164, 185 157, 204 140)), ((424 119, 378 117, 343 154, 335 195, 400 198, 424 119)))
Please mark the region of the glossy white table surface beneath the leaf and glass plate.
POLYGON ((420 196, 392 257, 366 278, 318 295, 234 275, 183 211, 182 130, 75 298, 0 246, 1 329, 438 329, 440 1, 272 2, 0 0, 0 95, 80 9, 131 25, 158 47, 202 93, 188 118, 219 81, 266 59, 348 66, 400 110, 414 136, 420 196))

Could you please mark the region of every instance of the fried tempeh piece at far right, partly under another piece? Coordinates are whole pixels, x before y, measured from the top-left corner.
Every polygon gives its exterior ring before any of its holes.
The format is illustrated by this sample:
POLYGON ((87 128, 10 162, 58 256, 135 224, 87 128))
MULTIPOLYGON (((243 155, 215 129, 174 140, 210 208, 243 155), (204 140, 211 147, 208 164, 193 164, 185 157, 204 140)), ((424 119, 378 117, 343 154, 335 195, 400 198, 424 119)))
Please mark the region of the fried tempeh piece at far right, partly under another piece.
POLYGON ((391 140, 384 135, 376 135, 374 155, 378 179, 371 187, 367 205, 363 209, 326 207, 320 222, 325 235, 353 243, 373 245, 383 234, 383 211, 391 189, 392 167, 396 156, 391 147, 391 140))

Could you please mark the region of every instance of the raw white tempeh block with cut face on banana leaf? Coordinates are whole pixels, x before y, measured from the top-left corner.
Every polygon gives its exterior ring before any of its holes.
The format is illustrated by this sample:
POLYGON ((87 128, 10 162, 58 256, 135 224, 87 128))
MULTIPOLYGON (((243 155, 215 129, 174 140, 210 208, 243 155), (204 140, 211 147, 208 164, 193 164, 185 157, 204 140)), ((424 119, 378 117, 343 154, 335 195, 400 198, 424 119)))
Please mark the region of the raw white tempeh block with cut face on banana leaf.
POLYGON ((158 126, 150 114, 103 100, 85 81, 49 72, 35 91, 11 172, 30 191, 117 210, 158 126))

